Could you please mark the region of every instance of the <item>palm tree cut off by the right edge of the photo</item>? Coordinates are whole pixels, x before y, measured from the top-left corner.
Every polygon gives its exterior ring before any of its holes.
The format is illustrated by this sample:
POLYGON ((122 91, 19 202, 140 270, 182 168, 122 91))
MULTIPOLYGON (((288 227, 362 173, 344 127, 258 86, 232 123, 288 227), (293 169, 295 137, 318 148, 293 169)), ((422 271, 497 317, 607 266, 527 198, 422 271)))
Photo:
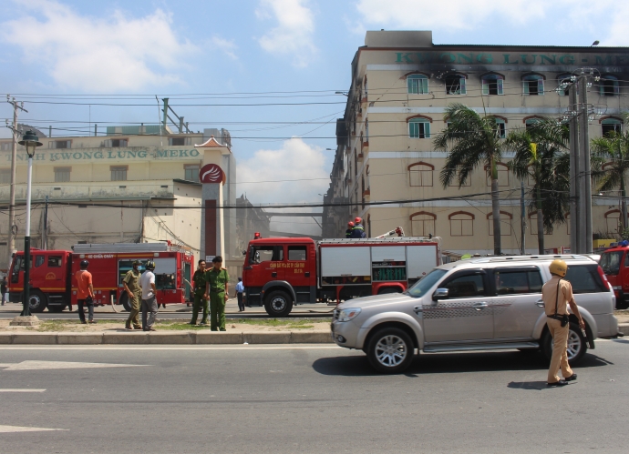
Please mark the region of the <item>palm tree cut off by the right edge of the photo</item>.
POLYGON ((626 184, 624 177, 629 170, 629 132, 612 132, 603 137, 592 139, 591 145, 593 156, 602 160, 610 161, 604 170, 600 171, 598 180, 600 182, 599 191, 609 191, 614 187, 620 187, 622 202, 622 226, 623 231, 627 228, 627 202, 626 184))

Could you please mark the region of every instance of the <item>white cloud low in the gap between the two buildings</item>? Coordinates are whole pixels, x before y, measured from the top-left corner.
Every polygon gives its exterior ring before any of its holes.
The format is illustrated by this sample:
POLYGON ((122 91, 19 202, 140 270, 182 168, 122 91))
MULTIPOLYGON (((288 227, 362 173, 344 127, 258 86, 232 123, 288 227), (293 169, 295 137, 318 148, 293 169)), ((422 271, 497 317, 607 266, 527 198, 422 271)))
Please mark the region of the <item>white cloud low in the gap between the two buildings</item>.
MULTIPOLYGON (((310 146, 301 138, 294 137, 284 141, 279 149, 258 150, 252 158, 240 161, 238 192, 246 193, 253 204, 323 201, 319 194, 324 194, 330 184, 329 170, 326 168, 322 148, 310 146)), ((286 211, 321 211, 321 208, 290 208, 286 211)), ((308 217, 273 217, 271 228, 321 235, 321 229, 308 217)))

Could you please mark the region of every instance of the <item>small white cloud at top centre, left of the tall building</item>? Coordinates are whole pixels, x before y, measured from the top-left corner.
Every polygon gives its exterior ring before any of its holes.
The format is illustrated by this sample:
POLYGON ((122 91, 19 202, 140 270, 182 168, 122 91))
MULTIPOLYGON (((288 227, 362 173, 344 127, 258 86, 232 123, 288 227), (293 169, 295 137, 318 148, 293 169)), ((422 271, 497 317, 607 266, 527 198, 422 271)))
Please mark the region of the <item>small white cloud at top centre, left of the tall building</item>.
POLYGON ((313 43, 314 15, 306 0, 262 0, 259 19, 274 17, 278 25, 258 39, 274 55, 290 55, 294 66, 307 66, 317 49, 313 43))

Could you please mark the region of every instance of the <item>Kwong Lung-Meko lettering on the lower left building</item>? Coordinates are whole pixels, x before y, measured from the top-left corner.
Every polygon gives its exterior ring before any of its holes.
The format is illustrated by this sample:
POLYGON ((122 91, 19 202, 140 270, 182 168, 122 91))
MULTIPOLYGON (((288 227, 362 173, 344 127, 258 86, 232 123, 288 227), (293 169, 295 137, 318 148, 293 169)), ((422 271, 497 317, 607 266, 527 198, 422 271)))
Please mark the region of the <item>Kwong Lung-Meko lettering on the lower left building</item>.
MULTIPOLYGON (((199 159, 201 153, 197 149, 189 150, 176 150, 176 149, 160 149, 160 148, 140 148, 138 149, 121 149, 121 150, 67 150, 67 151, 37 151, 33 157, 36 161, 51 161, 51 162, 87 162, 87 161, 107 161, 109 159, 115 161, 125 160, 185 160, 185 159, 199 159)), ((27 161, 28 156, 26 153, 18 153, 15 156, 15 161, 27 161)), ((5 162, 11 162, 11 153, 7 153, 3 159, 5 162)))

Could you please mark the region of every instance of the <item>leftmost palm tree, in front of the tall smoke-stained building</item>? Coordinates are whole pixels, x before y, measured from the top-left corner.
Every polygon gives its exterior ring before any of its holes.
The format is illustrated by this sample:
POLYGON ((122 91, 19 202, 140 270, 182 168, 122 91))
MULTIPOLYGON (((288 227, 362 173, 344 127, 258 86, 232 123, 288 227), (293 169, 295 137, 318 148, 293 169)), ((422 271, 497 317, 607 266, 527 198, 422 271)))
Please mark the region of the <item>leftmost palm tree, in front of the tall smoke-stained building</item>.
POLYGON ((444 121, 448 127, 435 138, 438 150, 448 153, 446 165, 441 169, 440 180, 443 187, 456 179, 459 188, 466 184, 471 171, 484 165, 491 178, 491 211, 493 217, 493 253, 501 253, 500 247, 500 197, 498 191, 498 169, 496 163, 502 156, 496 118, 479 116, 474 110, 462 104, 446 107, 444 121))

